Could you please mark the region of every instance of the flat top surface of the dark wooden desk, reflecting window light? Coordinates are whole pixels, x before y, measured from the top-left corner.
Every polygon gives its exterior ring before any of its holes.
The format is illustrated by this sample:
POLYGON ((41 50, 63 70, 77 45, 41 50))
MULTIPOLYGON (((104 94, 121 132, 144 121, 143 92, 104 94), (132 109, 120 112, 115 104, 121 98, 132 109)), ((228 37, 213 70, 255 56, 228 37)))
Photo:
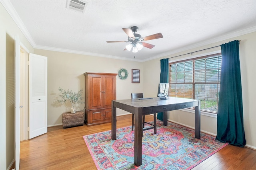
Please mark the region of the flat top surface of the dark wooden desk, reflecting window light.
POLYGON ((125 100, 113 100, 113 101, 120 104, 133 106, 133 107, 152 107, 152 106, 164 106, 164 105, 172 105, 172 104, 183 104, 188 102, 198 102, 198 100, 186 99, 186 98, 174 98, 174 97, 168 97, 167 100, 154 97, 154 98, 149 98, 145 100, 125 99, 125 100))

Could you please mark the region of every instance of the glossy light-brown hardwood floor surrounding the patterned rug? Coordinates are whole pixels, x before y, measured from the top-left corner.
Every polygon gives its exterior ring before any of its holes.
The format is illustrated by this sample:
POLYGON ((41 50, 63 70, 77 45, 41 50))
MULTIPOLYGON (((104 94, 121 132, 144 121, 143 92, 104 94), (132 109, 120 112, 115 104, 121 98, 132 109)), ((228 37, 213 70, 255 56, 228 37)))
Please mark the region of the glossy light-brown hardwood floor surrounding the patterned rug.
MULTIPOLYGON (((117 128, 130 126, 132 115, 117 117, 117 128)), ((146 121, 153 120, 147 115, 146 121)), ((20 170, 96 170, 83 136, 111 130, 111 123, 63 129, 48 127, 48 133, 20 143, 20 170)), ((193 168, 194 170, 255 170, 256 150, 228 145, 193 168)))

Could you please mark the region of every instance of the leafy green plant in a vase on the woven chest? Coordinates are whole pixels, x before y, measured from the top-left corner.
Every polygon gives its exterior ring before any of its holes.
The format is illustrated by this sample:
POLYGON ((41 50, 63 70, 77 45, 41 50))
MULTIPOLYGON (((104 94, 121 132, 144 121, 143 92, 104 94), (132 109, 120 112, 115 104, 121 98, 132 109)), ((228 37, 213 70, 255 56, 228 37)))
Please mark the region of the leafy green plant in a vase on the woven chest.
POLYGON ((62 88, 59 87, 59 91, 60 91, 60 94, 59 94, 60 99, 58 99, 58 102, 60 102, 62 104, 62 103, 66 103, 67 101, 69 101, 71 103, 70 112, 76 113, 76 104, 83 103, 82 102, 83 89, 80 89, 76 93, 76 92, 72 92, 72 90, 63 90, 62 88))

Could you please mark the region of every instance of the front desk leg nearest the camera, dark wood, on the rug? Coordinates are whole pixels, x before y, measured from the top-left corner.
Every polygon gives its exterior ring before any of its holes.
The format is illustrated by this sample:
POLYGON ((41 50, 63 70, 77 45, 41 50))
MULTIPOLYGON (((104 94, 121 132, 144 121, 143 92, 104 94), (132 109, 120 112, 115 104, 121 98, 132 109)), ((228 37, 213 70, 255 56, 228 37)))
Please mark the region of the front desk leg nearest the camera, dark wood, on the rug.
POLYGON ((142 108, 137 108, 134 113, 134 164, 141 165, 142 159, 142 108))

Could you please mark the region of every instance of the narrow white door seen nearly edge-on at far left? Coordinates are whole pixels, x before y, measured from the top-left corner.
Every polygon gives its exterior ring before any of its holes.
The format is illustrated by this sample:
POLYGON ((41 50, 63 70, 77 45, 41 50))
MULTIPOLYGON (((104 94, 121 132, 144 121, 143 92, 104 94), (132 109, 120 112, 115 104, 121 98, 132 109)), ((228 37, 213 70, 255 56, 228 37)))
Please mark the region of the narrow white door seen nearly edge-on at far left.
POLYGON ((20 39, 15 36, 15 169, 20 169, 20 39))

